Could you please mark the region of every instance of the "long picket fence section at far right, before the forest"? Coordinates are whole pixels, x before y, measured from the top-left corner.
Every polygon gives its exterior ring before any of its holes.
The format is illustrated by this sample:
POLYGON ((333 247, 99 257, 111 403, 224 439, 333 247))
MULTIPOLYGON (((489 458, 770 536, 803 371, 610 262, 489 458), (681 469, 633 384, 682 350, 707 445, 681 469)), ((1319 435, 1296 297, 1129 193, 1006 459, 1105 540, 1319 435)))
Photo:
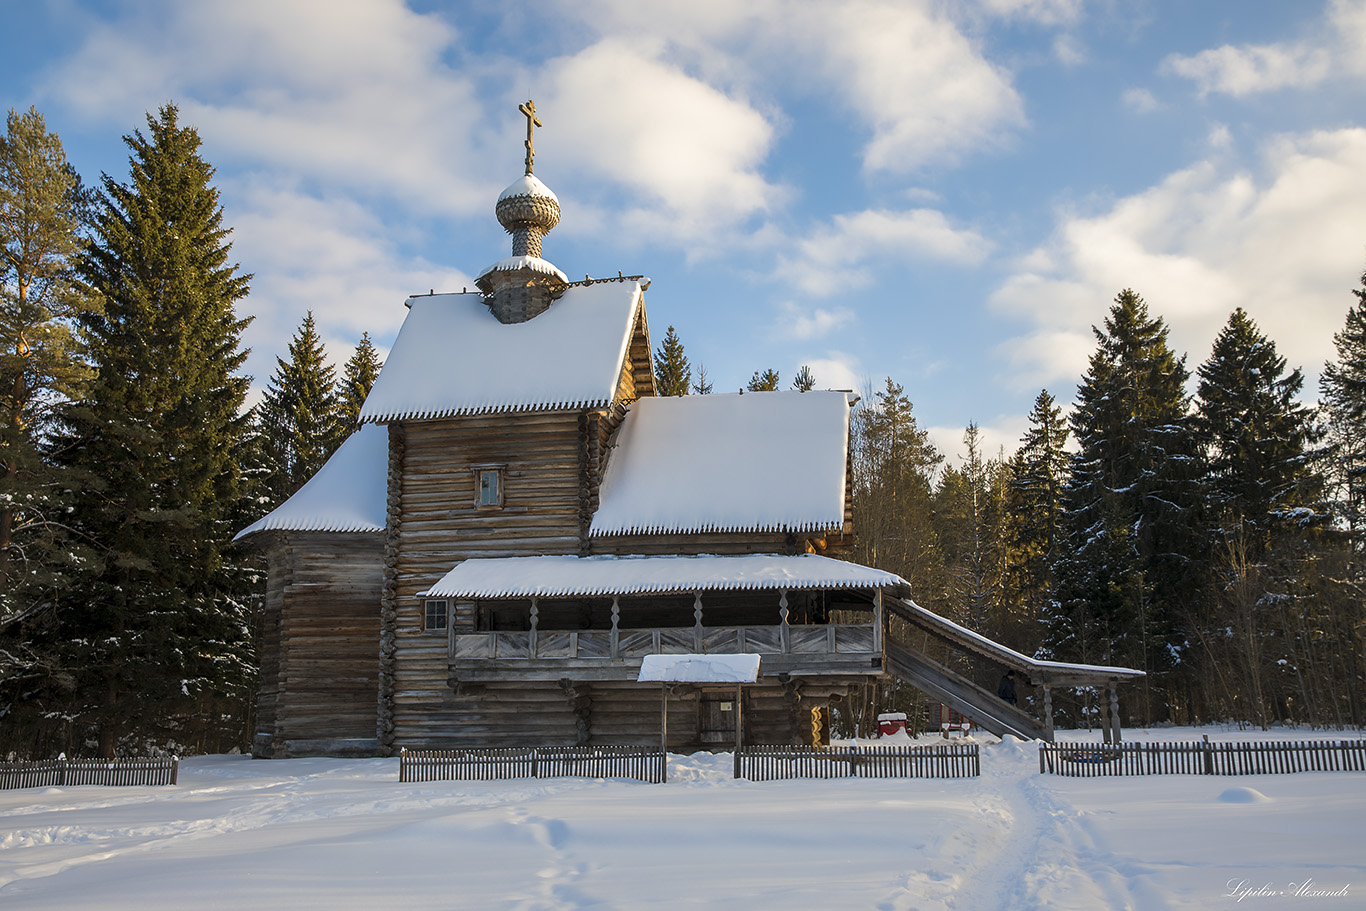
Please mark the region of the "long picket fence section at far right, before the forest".
POLYGON ((1083 779, 1121 774, 1281 774, 1363 772, 1366 740, 1210 743, 1041 743, 1041 773, 1083 779))

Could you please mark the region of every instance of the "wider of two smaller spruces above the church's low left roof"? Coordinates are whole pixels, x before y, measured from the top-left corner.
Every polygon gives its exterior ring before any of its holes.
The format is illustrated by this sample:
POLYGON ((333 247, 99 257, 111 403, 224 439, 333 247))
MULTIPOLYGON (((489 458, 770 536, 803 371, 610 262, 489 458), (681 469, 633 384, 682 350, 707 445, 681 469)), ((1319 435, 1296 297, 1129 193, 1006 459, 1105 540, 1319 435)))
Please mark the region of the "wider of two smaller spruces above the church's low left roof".
POLYGON ((258 430, 270 505, 288 500, 340 445, 339 418, 336 380, 310 310, 290 340, 290 359, 276 358, 261 402, 258 430))

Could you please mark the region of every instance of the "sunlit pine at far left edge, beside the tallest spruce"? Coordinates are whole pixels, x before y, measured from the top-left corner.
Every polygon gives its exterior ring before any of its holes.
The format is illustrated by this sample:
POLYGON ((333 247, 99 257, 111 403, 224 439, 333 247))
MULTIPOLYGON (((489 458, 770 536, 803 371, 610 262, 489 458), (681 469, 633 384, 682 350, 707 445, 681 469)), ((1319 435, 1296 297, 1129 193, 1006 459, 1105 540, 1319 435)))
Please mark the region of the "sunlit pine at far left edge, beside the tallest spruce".
MULTIPOLYGON (((81 179, 42 115, 10 112, 0 137, 0 682, 56 672, 41 631, 89 555, 66 524, 78 479, 46 452, 56 408, 90 378, 72 320, 81 179)), ((11 692, 0 716, 14 721, 11 692)), ((14 738, 11 738, 14 739, 14 738)), ((15 744, 18 746, 18 744, 15 744)))

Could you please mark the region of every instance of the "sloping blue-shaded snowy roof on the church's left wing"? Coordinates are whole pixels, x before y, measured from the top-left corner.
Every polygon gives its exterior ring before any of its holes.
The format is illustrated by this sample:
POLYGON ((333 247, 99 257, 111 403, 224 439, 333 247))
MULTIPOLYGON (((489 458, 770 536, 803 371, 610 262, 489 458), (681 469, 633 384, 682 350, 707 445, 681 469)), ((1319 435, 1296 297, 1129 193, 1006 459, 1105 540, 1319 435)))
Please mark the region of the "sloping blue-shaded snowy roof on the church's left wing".
POLYGON ((384 531, 388 459, 388 432, 361 428, 292 497, 236 537, 270 530, 384 531))

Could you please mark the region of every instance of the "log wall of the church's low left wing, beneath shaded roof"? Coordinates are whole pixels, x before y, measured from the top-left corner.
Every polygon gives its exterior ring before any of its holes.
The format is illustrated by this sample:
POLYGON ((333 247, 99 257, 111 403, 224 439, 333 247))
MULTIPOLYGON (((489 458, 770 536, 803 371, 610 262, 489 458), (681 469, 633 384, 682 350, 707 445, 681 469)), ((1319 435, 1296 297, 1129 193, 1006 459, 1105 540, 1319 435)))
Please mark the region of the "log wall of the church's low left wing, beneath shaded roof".
POLYGON ((374 755, 384 537, 268 534, 253 755, 374 755))

